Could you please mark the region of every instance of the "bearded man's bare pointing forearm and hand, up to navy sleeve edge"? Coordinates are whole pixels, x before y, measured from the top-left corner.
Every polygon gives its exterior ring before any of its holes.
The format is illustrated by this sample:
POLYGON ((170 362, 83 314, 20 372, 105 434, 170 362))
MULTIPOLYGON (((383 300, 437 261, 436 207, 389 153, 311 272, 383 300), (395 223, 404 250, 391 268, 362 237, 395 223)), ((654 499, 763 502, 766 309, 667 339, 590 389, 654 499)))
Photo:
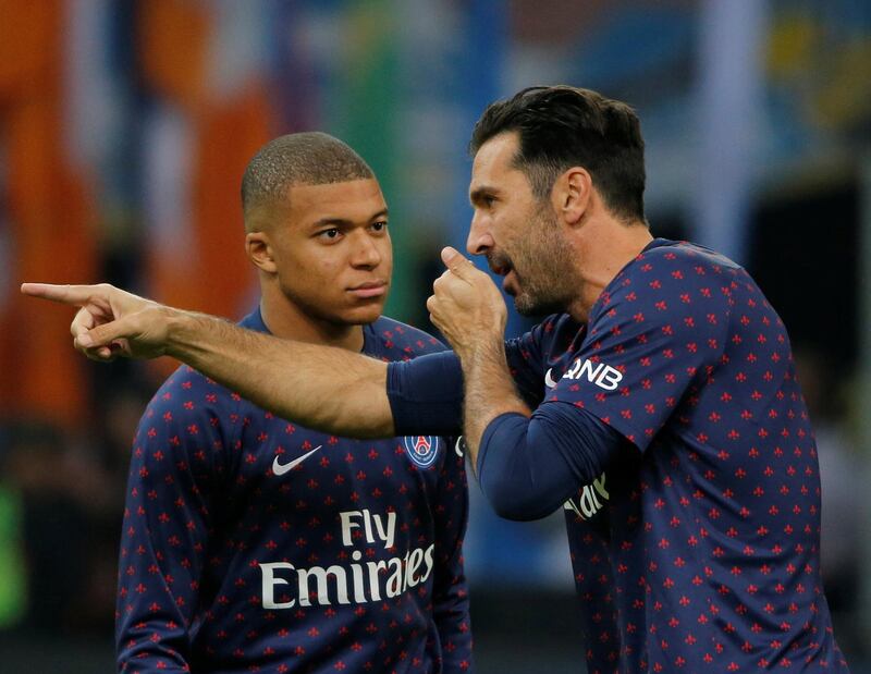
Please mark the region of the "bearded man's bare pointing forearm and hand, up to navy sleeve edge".
POLYGON ((253 332, 109 284, 25 283, 22 292, 79 307, 74 344, 95 360, 169 355, 303 426, 355 438, 395 434, 380 360, 253 332))

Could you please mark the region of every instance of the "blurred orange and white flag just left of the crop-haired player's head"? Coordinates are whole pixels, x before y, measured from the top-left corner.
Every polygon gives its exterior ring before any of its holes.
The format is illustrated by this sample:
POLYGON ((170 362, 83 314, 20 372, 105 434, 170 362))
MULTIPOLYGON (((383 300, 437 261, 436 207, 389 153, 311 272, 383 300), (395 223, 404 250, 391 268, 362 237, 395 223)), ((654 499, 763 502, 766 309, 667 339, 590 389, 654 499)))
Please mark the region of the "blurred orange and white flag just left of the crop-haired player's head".
POLYGON ((248 308, 254 281, 240 185, 270 137, 266 4, 152 0, 137 17, 152 94, 143 181, 148 292, 231 318, 248 308))

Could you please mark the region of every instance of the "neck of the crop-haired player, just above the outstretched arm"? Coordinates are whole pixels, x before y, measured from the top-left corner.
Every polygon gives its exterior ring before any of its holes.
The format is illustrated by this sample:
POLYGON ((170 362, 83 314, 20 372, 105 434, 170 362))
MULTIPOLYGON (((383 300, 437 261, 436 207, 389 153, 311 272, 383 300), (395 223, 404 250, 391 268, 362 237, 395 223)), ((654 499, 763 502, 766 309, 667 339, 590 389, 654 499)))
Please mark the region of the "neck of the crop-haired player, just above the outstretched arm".
POLYGON ((305 314, 279 289, 261 285, 260 315, 275 336, 309 344, 363 351, 363 326, 335 323, 305 314))

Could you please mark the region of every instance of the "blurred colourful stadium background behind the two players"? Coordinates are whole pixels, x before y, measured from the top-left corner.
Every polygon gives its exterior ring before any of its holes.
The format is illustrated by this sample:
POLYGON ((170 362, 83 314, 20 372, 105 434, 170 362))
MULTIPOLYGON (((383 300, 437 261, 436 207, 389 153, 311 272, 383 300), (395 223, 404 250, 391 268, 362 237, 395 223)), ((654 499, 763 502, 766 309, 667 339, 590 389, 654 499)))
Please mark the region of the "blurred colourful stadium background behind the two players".
MULTIPOLYGON (((737 259, 784 318, 836 636, 871 672, 867 0, 0 0, 0 669, 113 670, 130 440, 174 366, 77 357, 71 311, 19 283, 242 317, 245 164, 322 130, 378 174, 389 314, 428 329, 438 250, 469 222, 475 120, 557 83, 636 107, 654 234, 737 259)), ((502 522, 471 491, 478 671, 582 672, 562 514, 502 522)))

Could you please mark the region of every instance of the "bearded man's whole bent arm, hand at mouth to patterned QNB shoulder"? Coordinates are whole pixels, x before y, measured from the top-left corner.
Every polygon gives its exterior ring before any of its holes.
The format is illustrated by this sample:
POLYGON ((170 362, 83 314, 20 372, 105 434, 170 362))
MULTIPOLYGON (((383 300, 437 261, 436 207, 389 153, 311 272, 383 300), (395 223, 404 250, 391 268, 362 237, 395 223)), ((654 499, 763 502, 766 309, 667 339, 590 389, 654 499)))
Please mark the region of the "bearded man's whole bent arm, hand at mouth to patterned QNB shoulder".
POLYGON ((440 280, 446 287, 440 293, 437 286, 430 310, 463 361, 466 431, 479 481, 505 517, 544 516, 601 476, 626 446, 643 451, 676 401, 722 355, 728 279, 703 274, 699 265, 685 269, 686 261, 670 253, 658 260, 662 281, 639 274, 630 291, 610 298, 609 309, 591 320, 596 339, 585 342, 574 371, 530 415, 506 385, 492 346, 496 335, 487 328, 492 317, 478 319, 495 304, 494 296, 480 299, 492 283, 467 261, 447 257, 455 267, 440 280), (585 363, 608 380, 584 375, 585 363))

